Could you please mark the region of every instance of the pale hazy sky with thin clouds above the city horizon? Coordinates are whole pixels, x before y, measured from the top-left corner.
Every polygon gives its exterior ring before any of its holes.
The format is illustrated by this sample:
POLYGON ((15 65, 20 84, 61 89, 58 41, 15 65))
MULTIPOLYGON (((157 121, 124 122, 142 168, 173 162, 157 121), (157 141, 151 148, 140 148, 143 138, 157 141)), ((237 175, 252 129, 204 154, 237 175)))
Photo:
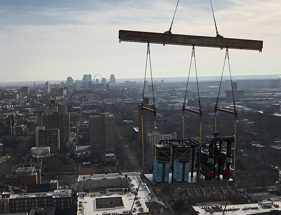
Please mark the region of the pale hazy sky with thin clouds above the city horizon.
MULTIPOLYGON (((144 77, 146 44, 118 30, 169 30, 177 0, 2 0, 0 81, 65 80, 99 73, 144 77)), ((232 75, 281 74, 281 1, 213 0, 224 37, 263 40, 263 51, 229 50, 232 75)), ((215 36, 210 1, 181 0, 172 33, 215 36)), ((151 44, 153 77, 186 77, 191 47, 151 44)), ((225 50, 195 47, 199 76, 220 75, 225 50)), ((228 70, 225 74, 228 74, 228 70)), ((195 75, 191 70, 191 76, 195 75)), ((98 77, 99 78, 99 77, 98 77)))

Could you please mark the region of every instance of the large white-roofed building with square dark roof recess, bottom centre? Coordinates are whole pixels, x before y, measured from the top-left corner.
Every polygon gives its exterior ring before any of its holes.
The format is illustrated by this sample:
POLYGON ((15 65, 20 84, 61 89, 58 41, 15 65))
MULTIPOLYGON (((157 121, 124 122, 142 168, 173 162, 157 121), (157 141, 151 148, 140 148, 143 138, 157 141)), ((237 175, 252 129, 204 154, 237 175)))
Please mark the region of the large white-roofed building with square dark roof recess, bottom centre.
MULTIPOLYGON (((146 203, 150 202, 148 195, 150 190, 145 183, 140 182, 140 179, 139 173, 79 176, 77 184, 78 191, 81 193, 78 193, 77 214, 102 215, 105 214, 104 211, 107 214, 129 214, 132 205, 131 214, 153 214, 148 213, 149 207, 146 206, 146 203), (138 199, 134 201, 137 189, 138 199), (97 192, 98 194, 87 194, 91 192, 97 192)), ((161 214, 160 208, 159 214, 161 214)))

